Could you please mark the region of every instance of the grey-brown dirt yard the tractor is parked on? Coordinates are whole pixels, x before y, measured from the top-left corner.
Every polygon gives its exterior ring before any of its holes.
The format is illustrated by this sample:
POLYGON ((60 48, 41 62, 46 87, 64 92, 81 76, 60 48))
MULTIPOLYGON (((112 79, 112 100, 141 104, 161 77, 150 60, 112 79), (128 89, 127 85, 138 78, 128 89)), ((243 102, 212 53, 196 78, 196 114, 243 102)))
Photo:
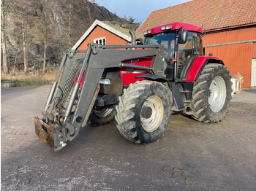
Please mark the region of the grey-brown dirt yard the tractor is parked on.
POLYGON ((172 114, 147 145, 123 139, 116 122, 87 126, 61 152, 34 134, 49 89, 1 89, 1 190, 256 190, 256 89, 217 124, 172 114))

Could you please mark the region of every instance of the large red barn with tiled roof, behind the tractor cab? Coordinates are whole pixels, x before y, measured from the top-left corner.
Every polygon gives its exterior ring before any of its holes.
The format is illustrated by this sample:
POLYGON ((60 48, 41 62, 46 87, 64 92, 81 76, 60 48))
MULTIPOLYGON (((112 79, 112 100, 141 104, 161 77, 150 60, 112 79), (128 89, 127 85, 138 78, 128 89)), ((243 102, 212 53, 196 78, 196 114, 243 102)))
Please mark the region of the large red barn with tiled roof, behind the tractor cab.
POLYGON ((256 86, 256 1, 194 0, 151 12, 138 28, 183 22, 203 26, 205 54, 224 61, 230 75, 244 77, 244 87, 256 86))

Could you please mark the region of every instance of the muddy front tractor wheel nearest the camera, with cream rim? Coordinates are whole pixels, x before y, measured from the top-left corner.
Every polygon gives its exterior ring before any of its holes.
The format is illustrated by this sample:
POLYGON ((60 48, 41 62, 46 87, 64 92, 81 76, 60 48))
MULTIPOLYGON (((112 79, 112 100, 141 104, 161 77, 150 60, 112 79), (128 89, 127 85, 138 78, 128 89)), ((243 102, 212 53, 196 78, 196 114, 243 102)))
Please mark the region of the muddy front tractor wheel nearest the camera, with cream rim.
POLYGON ((116 112, 121 135, 137 144, 148 144, 164 136, 170 121, 170 94, 162 83, 135 82, 124 89, 116 112))

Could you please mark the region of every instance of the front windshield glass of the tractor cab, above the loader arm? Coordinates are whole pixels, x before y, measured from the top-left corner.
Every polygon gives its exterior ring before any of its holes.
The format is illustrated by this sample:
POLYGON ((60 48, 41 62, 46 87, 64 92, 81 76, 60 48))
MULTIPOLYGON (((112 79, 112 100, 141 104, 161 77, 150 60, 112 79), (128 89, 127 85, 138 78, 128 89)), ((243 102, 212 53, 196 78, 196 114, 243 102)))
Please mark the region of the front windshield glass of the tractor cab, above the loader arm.
POLYGON ((165 60, 170 61, 170 58, 174 58, 175 39, 175 32, 159 33, 146 37, 144 44, 163 44, 165 47, 165 60))

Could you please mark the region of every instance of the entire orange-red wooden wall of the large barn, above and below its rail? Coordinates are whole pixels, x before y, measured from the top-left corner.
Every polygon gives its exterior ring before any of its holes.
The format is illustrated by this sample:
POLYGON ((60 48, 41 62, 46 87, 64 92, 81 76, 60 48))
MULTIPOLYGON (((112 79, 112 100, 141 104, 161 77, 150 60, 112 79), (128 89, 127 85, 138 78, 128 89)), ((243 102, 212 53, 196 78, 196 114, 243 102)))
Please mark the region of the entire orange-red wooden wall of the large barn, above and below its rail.
POLYGON ((239 72, 244 77, 244 87, 250 87, 252 58, 256 57, 256 45, 246 41, 255 39, 256 26, 250 26, 206 34, 203 36, 203 45, 206 46, 206 55, 213 53, 224 61, 231 76, 239 72), (236 42, 242 43, 232 44, 236 42), (231 44, 224 45, 225 43, 231 44), (211 47, 207 47, 208 45, 211 47))

